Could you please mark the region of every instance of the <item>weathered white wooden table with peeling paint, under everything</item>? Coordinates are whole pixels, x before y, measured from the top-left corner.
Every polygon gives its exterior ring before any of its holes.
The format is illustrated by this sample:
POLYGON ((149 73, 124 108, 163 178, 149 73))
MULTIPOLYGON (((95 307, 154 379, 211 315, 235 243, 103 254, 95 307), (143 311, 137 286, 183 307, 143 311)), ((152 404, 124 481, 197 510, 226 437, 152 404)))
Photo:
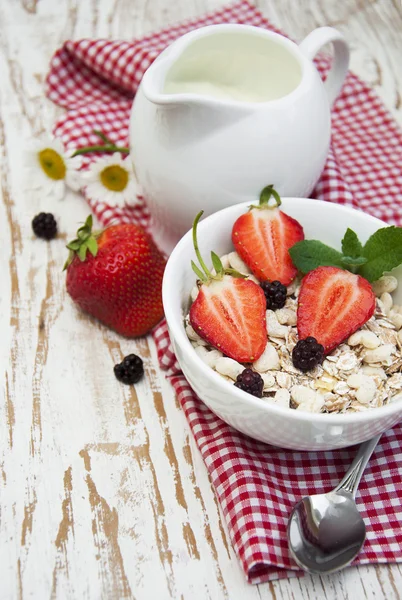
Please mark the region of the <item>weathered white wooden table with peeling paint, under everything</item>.
MULTIPOLYGON (((245 583, 186 420, 150 339, 122 339, 80 314, 61 271, 82 197, 35 200, 22 150, 59 110, 44 98, 67 38, 130 39, 224 0, 0 2, 0 598, 254 600, 400 598, 402 568, 245 583), (31 219, 53 212, 47 244, 31 219), (113 365, 145 358, 136 389, 113 365)), ((258 0, 301 40, 319 25, 348 38, 351 66, 402 123, 400 0, 258 0)))

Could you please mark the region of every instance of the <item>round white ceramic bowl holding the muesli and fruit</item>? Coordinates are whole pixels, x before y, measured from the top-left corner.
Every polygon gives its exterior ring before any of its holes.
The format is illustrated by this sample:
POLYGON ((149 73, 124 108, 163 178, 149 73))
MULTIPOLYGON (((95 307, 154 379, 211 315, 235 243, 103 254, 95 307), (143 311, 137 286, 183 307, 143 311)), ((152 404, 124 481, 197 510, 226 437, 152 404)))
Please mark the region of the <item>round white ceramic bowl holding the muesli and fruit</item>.
MULTIPOLYGON (((231 231, 235 220, 247 210, 239 204, 221 210, 201 221, 198 228, 200 250, 205 258, 233 249, 231 231)), ((307 239, 318 239, 340 248, 347 227, 365 241, 386 224, 362 212, 320 200, 284 198, 281 207, 302 224, 307 239)), ((268 444, 294 450, 330 450, 357 444, 383 432, 402 419, 402 402, 353 414, 314 414, 285 409, 254 398, 225 381, 196 354, 187 338, 184 316, 190 305, 195 275, 191 232, 173 250, 163 280, 163 304, 176 356, 191 387, 221 419, 239 431, 268 444)), ((402 304, 402 269, 393 274, 400 287, 395 301, 402 304)))

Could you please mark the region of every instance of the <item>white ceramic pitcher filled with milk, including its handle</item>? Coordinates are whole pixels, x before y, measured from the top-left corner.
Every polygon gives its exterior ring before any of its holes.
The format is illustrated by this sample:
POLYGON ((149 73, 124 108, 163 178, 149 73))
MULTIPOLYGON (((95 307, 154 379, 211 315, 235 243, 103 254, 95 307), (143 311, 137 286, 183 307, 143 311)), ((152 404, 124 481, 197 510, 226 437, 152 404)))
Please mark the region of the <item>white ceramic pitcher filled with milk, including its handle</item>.
POLYGON ((297 46, 247 25, 187 33, 146 71, 130 122, 131 156, 158 245, 170 252, 195 215, 255 202, 274 184, 308 196, 330 142, 330 107, 349 63, 330 27, 297 46), (325 83, 312 63, 332 42, 325 83))

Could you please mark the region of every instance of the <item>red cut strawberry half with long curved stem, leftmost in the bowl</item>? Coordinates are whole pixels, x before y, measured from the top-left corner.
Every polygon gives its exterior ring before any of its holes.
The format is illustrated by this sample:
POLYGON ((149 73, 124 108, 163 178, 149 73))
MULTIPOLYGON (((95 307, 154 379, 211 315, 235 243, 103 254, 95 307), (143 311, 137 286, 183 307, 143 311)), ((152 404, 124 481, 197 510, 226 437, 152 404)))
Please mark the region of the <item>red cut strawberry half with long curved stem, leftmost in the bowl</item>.
POLYGON ((202 285, 190 323, 204 340, 238 362, 253 362, 267 344, 266 300, 253 281, 224 275, 202 285))

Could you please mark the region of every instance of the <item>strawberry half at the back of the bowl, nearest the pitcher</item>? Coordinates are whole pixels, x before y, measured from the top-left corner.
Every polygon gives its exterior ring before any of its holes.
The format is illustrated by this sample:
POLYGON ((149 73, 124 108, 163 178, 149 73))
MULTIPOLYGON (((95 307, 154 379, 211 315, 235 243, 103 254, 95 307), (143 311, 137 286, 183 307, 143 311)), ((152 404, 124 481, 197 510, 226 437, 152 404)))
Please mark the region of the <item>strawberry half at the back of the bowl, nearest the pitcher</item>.
POLYGON ((260 281, 278 280, 289 285, 297 269, 288 251, 304 239, 304 232, 296 219, 278 209, 280 203, 272 186, 264 188, 260 205, 241 215, 233 225, 232 241, 236 252, 260 281), (277 201, 275 206, 268 205, 272 193, 277 201))

